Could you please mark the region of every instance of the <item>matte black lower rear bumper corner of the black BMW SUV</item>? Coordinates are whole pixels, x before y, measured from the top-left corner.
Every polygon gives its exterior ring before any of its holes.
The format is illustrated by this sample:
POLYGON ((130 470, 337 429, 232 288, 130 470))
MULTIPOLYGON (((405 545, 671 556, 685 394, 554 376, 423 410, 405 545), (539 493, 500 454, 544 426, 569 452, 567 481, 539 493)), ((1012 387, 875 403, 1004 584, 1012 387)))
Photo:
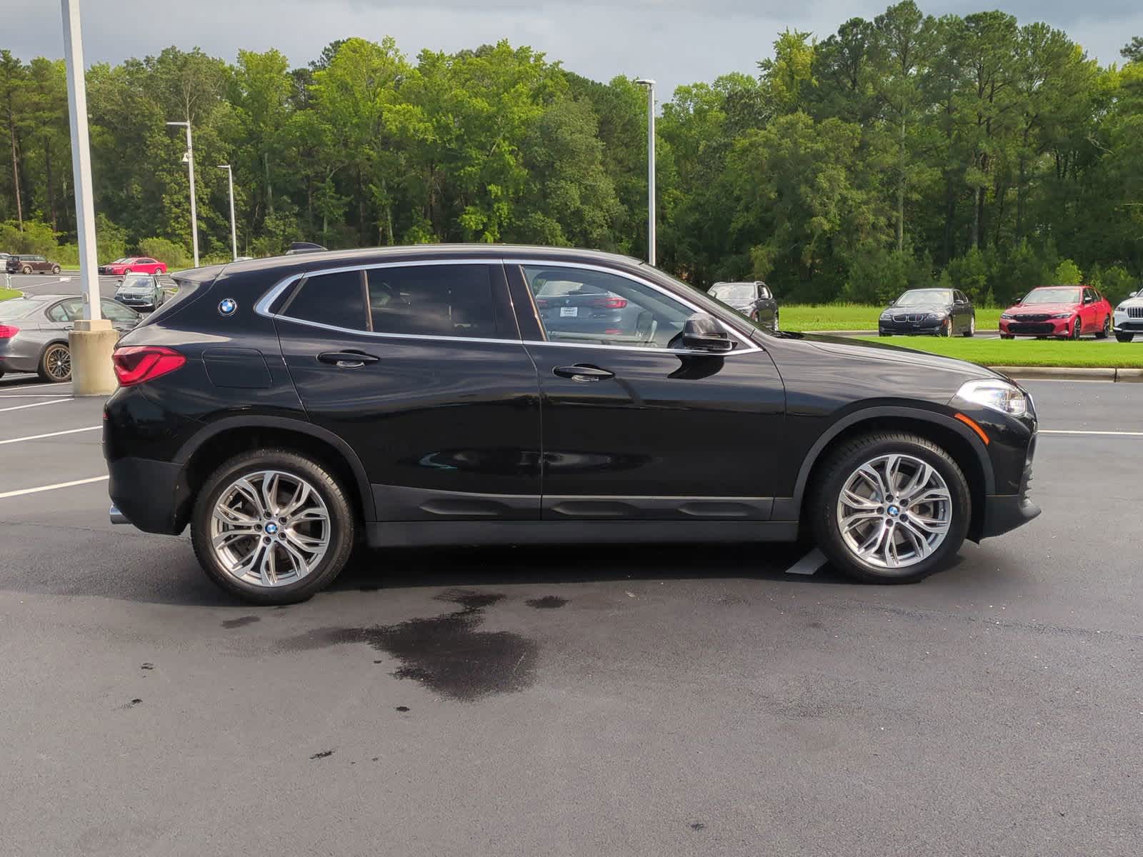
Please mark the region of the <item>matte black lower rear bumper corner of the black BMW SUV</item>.
POLYGON ((107 471, 112 523, 131 523, 144 532, 183 531, 191 503, 183 465, 126 457, 109 462, 107 471))

